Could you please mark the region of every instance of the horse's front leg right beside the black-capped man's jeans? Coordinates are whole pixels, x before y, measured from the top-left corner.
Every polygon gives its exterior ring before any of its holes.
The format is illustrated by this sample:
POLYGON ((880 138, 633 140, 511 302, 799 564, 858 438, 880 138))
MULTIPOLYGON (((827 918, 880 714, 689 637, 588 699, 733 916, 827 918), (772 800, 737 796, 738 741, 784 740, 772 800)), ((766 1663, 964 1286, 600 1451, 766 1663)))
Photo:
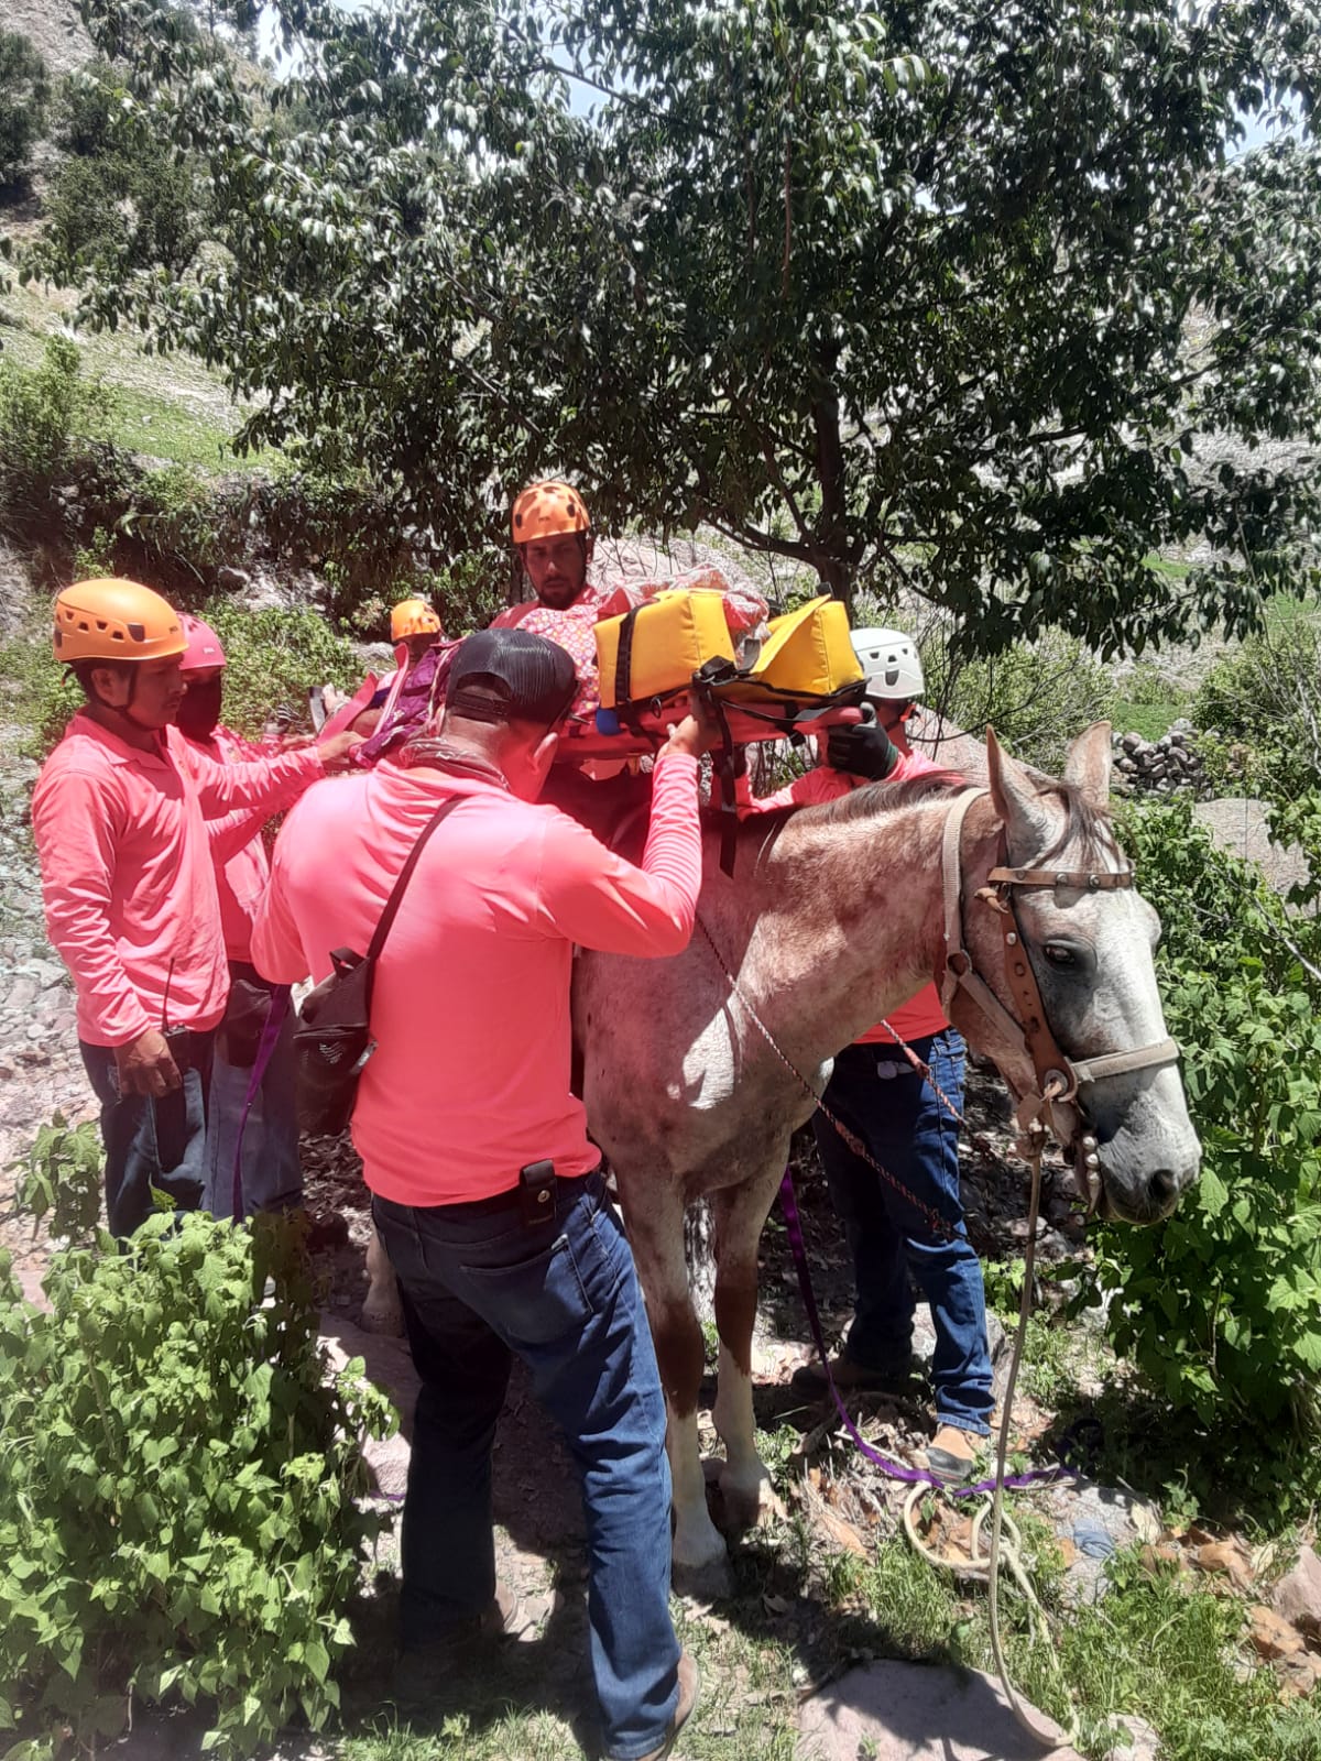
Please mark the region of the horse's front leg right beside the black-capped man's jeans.
POLYGON ((676 1187, 662 1190, 655 1182, 634 1203, 625 1194, 624 1215, 646 1298, 660 1386, 666 1391, 675 1592, 703 1599, 731 1595, 734 1585, 729 1553, 706 1509, 706 1479, 697 1442, 705 1351, 683 1259, 683 1201, 676 1187))

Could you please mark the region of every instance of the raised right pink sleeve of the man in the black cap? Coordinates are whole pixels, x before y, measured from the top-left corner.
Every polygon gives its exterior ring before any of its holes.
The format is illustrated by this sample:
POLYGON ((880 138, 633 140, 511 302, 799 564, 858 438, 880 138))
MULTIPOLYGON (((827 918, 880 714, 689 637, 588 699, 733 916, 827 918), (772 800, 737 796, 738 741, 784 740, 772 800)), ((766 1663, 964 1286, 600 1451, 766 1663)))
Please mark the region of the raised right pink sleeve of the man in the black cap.
POLYGON ((546 826, 542 919, 579 947, 660 960, 689 946, 701 891, 697 761, 662 755, 652 778, 652 824, 639 868, 564 814, 546 826))

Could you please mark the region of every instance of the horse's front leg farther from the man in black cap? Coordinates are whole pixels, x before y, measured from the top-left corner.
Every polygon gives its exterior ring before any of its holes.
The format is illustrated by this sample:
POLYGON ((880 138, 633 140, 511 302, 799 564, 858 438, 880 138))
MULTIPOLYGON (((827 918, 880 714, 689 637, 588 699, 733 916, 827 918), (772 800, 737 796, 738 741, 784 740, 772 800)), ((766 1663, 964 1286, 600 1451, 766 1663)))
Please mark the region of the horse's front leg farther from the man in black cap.
MULTIPOLYGON (((766 1463, 757 1455, 752 1412, 752 1330, 757 1321, 757 1242, 770 1210, 766 1180, 745 1180, 710 1196, 715 1215, 715 1326, 720 1381, 715 1428, 726 1451, 720 1495, 733 1529, 784 1516, 766 1463)), ((770 1187, 773 1192, 773 1183, 770 1187)))

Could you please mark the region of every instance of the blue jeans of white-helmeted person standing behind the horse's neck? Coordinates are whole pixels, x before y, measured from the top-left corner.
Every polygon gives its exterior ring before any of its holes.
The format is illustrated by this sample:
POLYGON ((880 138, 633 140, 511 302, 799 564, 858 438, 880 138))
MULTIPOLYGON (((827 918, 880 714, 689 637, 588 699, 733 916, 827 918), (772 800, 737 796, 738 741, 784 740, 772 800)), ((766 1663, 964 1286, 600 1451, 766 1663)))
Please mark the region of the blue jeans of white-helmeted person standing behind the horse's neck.
MULTIPOLYGON (((946 1028, 911 1044, 962 1111, 960 1035, 946 1028)), ((942 1242, 912 1203, 849 1150, 824 1115, 814 1116, 830 1196, 852 1252, 856 1303, 845 1356, 882 1375, 907 1367, 911 1273, 932 1310, 937 1418, 985 1437, 995 1396, 981 1261, 967 1238, 958 1194, 958 1125, 898 1046, 849 1046, 835 1058, 823 1101, 882 1168, 955 1229, 955 1238, 942 1242)))

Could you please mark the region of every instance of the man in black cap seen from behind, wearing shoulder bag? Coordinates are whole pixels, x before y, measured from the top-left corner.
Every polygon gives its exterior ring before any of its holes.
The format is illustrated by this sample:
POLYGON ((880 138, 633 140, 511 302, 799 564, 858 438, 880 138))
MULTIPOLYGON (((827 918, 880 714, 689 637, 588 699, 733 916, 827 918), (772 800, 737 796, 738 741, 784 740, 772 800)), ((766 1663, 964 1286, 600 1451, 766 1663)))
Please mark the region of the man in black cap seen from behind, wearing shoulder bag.
POLYGON ((569 655, 484 630, 454 657, 437 733, 398 764, 312 789, 280 833, 254 937, 289 983, 363 949, 421 831, 380 954, 377 1051, 352 1120, 423 1379, 403 1506, 402 1699, 461 1647, 525 1624, 495 1581, 491 1442, 513 1356, 569 1440, 590 1550, 604 1752, 669 1752, 697 1671, 669 1620, 666 1409, 632 1256, 569 1088, 572 947, 666 956, 701 884, 697 755, 655 761, 641 866, 537 805, 576 689, 569 655), (326 884, 328 873, 333 886, 326 884))

